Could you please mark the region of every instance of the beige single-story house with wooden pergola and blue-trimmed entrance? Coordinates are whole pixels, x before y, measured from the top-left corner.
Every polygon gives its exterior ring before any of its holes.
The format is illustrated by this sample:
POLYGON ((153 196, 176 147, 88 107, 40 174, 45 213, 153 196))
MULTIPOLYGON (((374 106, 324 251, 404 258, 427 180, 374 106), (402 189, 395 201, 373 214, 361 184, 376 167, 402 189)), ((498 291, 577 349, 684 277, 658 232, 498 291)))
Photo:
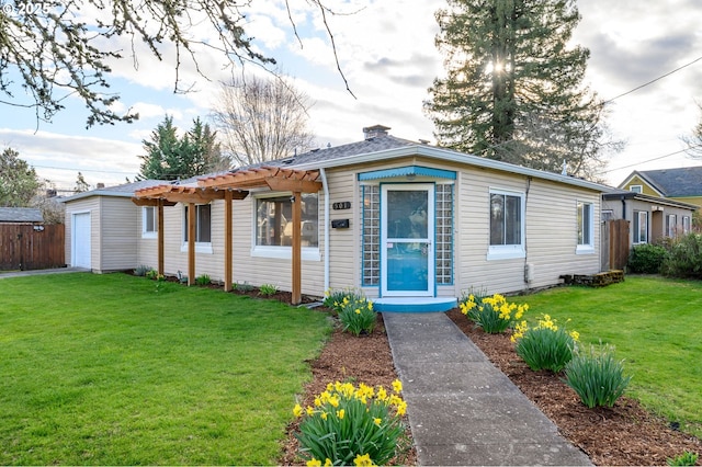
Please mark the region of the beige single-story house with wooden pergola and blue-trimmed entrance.
POLYGON ((388 129, 264 166, 71 196, 66 258, 97 272, 207 274, 225 288, 272 284, 294 300, 355 287, 378 304, 446 306, 472 288, 600 272, 604 186, 388 129))

